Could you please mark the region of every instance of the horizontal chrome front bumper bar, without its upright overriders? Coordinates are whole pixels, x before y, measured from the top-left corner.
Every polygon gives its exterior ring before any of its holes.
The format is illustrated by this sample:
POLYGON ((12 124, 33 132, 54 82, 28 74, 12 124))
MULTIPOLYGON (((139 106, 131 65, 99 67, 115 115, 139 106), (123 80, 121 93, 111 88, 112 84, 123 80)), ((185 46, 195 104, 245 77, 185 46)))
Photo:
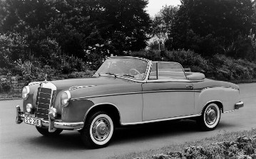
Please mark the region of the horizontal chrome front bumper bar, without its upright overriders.
MULTIPOLYGON (((25 114, 21 114, 21 119, 24 120, 25 114)), ((34 116, 31 116, 33 118, 36 118, 34 116)), ((37 118, 37 119, 41 119, 41 118, 37 118)), ((49 121, 46 121, 44 119, 41 119, 42 121, 42 126, 49 126, 49 121)), ((83 121, 82 122, 72 122, 72 123, 68 123, 68 122, 61 122, 61 121, 55 121, 54 122, 54 128, 61 128, 61 129, 69 129, 69 130, 73 130, 73 129, 80 129, 83 128, 83 121)))

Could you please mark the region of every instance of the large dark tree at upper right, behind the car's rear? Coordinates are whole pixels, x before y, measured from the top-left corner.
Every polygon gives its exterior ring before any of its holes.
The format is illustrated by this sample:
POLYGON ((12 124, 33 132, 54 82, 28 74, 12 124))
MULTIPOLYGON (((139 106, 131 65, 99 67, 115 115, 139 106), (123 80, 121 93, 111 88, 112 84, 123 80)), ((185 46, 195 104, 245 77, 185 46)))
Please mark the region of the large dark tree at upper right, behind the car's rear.
POLYGON ((169 49, 190 49, 202 55, 225 53, 240 37, 246 39, 250 29, 255 31, 250 0, 182 0, 177 15, 169 49))

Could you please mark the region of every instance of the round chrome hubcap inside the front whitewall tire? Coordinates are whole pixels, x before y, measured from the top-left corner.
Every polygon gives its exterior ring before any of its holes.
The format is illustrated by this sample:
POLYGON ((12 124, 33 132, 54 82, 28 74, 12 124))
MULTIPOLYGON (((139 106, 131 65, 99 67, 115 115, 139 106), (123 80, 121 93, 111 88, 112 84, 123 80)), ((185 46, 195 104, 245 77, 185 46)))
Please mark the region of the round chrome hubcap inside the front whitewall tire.
POLYGON ((111 125, 109 124, 108 119, 99 118, 93 124, 93 138, 95 138, 96 141, 104 141, 108 138, 110 130, 111 125))

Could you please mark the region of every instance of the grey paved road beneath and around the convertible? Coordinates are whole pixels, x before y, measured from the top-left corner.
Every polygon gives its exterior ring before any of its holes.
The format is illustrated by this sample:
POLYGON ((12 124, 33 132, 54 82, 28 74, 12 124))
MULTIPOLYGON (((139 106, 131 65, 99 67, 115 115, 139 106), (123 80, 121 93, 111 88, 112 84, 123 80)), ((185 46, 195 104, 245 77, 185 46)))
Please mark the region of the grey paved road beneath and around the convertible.
POLYGON ((184 143, 228 131, 256 128, 256 83, 240 84, 245 107, 222 114, 215 131, 200 132, 194 121, 164 122, 119 128, 107 148, 89 150, 83 147, 76 131, 63 131, 58 138, 41 136, 34 126, 15 124, 15 106, 21 100, 0 102, 0 158, 107 158, 113 155, 184 143))

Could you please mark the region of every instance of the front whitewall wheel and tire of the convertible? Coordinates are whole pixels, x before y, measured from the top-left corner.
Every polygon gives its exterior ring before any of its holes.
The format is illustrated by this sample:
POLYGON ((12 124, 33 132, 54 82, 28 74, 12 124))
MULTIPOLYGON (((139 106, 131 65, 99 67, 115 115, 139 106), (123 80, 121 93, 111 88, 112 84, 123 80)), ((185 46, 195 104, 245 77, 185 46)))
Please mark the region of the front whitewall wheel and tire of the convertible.
POLYGON ((111 116, 104 111, 92 114, 81 130, 81 138, 88 148, 108 146, 114 132, 111 116))

